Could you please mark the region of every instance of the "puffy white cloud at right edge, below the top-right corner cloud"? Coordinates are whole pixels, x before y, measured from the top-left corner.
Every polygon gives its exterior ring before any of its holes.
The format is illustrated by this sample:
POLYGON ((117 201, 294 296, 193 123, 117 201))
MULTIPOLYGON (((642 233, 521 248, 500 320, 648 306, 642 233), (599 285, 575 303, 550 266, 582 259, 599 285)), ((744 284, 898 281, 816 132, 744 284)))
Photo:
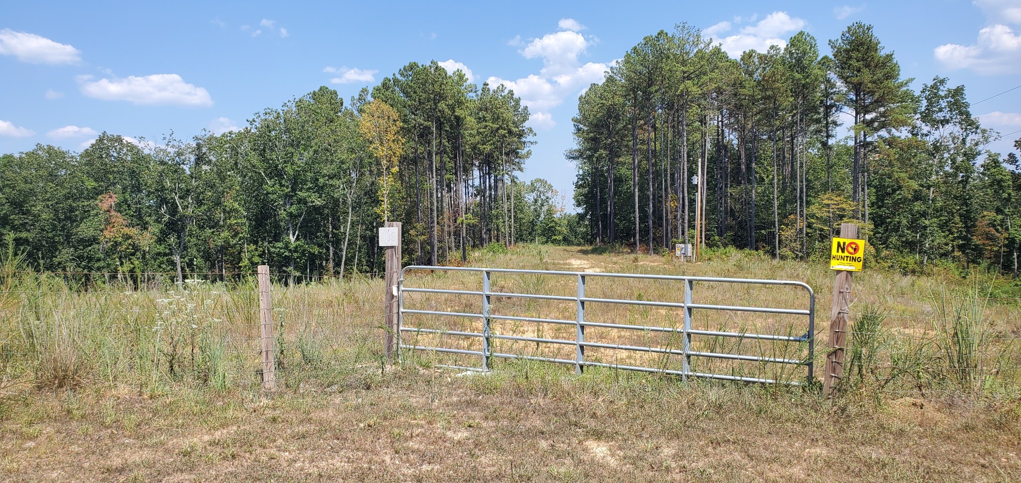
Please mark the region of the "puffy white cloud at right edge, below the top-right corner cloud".
POLYGON ((943 44, 933 50, 940 63, 951 70, 972 69, 981 75, 1012 74, 1021 64, 1021 35, 1005 25, 978 31, 974 45, 943 44))

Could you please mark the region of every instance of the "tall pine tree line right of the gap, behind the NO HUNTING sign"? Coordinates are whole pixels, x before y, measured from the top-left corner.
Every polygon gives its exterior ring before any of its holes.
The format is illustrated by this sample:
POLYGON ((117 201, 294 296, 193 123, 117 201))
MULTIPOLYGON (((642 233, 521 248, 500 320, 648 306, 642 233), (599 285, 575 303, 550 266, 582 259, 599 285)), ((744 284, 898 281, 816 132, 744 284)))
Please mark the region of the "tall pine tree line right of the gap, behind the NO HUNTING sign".
POLYGON ((799 32, 734 59, 684 23, 642 39, 579 97, 567 154, 588 236, 806 259, 854 222, 902 270, 1016 276, 1021 163, 987 149, 965 88, 913 91, 865 23, 829 48, 799 32))

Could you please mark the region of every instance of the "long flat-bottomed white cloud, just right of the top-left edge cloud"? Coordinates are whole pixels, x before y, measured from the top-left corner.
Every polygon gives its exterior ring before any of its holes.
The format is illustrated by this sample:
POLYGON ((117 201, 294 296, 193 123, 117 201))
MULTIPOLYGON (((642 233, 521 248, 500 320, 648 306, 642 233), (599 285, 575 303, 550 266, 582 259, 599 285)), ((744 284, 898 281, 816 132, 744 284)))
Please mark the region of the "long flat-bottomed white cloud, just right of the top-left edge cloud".
POLYGON ((82 94, 104 101, 128 101, 136 105, 210 106, 212 99, 204 88, 188 84, 177 74, 153 74, 127 79, 100 79, 80 76, 82 94))

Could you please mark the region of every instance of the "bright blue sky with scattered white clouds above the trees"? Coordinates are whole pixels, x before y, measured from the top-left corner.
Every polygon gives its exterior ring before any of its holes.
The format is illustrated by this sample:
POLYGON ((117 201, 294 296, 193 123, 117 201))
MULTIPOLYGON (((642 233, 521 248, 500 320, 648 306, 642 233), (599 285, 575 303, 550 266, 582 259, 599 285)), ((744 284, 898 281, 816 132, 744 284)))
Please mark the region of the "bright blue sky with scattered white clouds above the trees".
MULTIPOLYGON (((642 36, 686 21, 736 55, 806 30, 828 53, 856 20, 875 26, 916 89, 945 76, 976 102, 1021 85, 1021 0, 8 2, 0 152, 78 151, 103 131, 153 141, 220 132, 319 86, 346 99, 435 59, 515 88, 537 133, 525 178, 570 200, 577 96, 642 36)), ((1021 130, 1021 89, 972 111, 1003 134, 1021 130)), ((1012 149, 1006 139, 989 148, 1012 149)))

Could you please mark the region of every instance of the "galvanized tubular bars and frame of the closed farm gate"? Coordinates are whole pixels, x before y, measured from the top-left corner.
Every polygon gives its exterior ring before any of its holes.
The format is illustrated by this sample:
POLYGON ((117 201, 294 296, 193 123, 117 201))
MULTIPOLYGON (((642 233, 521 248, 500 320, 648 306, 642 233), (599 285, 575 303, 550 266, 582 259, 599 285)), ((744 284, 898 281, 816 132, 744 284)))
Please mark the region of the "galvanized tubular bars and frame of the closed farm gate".
POLYGON ((423 265, 411 265, 405 268, 401 272, 401 277, 398 280, 399 296, 398 296, 398 308, 399 308, 399 329, 397 331, 398 340, 404 332, 416 333, 416 334, 437 334, 437 335, 452 335, 459 337, 479 337, 482 339, 482 350, 467 350, 467 349, 454 349, 449 347, 430 347, 422 345, 405 345, 402 342, 398 342, 398 347, 411 350, 426 350, 435 351, 443 353, 455 353, 465 355, 479 355, 482 357, 481 368, 469 368, 461 366, 451 366, 451 365, 441 365, 440 367, 449 367, 455 369, 464 369, 471 371, 489 371, 490 370, 490 357, 500 357, 500 358, 512 358, 512 359, 524 359, 524 360, 536 360, 554 364, 565 364, 572 365, 575 367, 575 371, 580 374, 585 367, 600 367, 610 369, 620 369, 628 371, 640 371, 640 372, 650 372, 650 373, 662 373, 662 374, 672 374, 678 375, 682 378, 687 377, 699 377, 699 378, 711 378, 711 379, 723 379, 730 381, 744 381, 744 382, 761 382, 761 383, 776 383, 781 382, 785 384, 799 384, 796 381, 776 381, 766 378, 753 378, 745 376, 732 376, 725 374, 710 374, 692 372, 691 370, 691 357, 711 357, 711 358, 723 358, 732 360, 745 360, 745 361, 758 361, 767 364, 785 364, 785 365, 804 365, 808 369, 808 381, 813 380, 813 353, 814 353, 814 338, 815 338, 815 293, 808 284, 803 282, 794 281, 782 281, 782 280, 756 280, 756 279, 732 279, 732 278, 714 278, 714 277, 687 277, 687 276, 669 276, 669 275, 643 275, 643 274, 609 274, 609 273, 588 273, 588 272, 556 272, 556 271, 531 271, 531 270, 516 270, 516 269, 478 269, 478 268, 461 268, 461 267, 423 267, 423 265), (424 270, 424 271, 451 271, 451 272, 481 272, 482 273, 482 291, 473 290, 449 290, 449 289, 429 289, 429 288, 415 288, 415 287, 404 287, 404 276, 408 271, 424 270), (552 276, 573 276, 577 281, 577 296, 561 296, 561 295, 542 295, 542 294, 529 294, 529 293, 506 293, 506 292, 493 292, 491 291, 491 277, 493 273, 508 273, 508 274, 536 274, 536 275, 552 275, 552 276), (626 300, 626 299, 611 299, 611 298, 593 298, 585 296, 585 278, 586 277, 606 277, 606 278, 629 278, 629 279, 646 279, 646 280, 664 280, 664 281, 683 281, 685 284, 684 290, 684 301, 683 302, 662 302, 662 301, 651 301, 651 300, 626 300), (751 307, 751 306, 740 306, 740 305, 718 305, 718 304, 702 304, 693 303, 692 297, 694 292, 695 282, 709 282, 709 283, 733 283, 733 284, 756 284, 756 285, 777 285, 777 286, 791 286, 800 287, 808 291, 809 294, 809 308, 808 309, 795 309, 795 308, 781 308, 781 307, 751 307), (437 293, 437 294, 454 294, 454 295, 473 295, 482 297, 482 313, 469 313, 469 312, 454 312, 454 311, 440 311, 440 310, 421 310, 421 309, 405 309, 403 292, 418 292, 418 293, 437 293), (546 299, 546 300, 563 300, 563 301, 575 301, 577 317, 575 321, 564 321, 557 319, 540 319, 540 318, 529 318, 529 317, 514 317, 514 316, 497 316, 491 313, 492 297, 517 297, 517 298, 531 298, 531 299, 546 299), (683 327, 671 328, 671 327, 655 327, 655 326, 636 326, 636 325, 624 325, 624 324, 610 324, 610 323, 597 323, 589 322, 585 319, 585 304, 586 302, 593 303, 618 303, 618 304, 628 304, 628 305, 645 305, 645 306, 663 306, 663 307, 676 307, 682 308, 684 311, 683 327), (691 321, 693 319, 693 310, 695 308, 712 309, 712 310, 739 310, 739 311, 752 311, 752 312, 764 312, 764 313, 783 313, 783 315, 794 315, 794 316, 807 316, 809 318, 808 331, 797 337, 793 336, 783 336, 783 335, 773 335, 773 334, 749 334, 740 332, 725 332, 725 331, 706 331, 696 330, 691 328, 691 321), (460 318, 476 318, 482 319, 482 332, 464 332, 464 331, 449 331, 449 330, 437 330, 437 329, 425 329, 425 328, 408 328, 403 327, 403 316, 405 313, 419 313, 419 315, 430 315, 430 316, 441 316, 441 317, 460 317, 460 318), (533 323, 546 323, 546 324, 561 324, 561 325, 574 325, 576 326, 576 337, 575 340, 563 340, 563 339, 548 339, 540 337, 526 337, 526 336, 514 336, 514 335, 502 335, 493 334, 490 327, 491 320, 504 320, 504 321, 518 321, 518 322, 533 322, 533 323), (625 345, 625 344, 607 344, 607 343, 596 343, 596 342, 586 342, 585 341, 585 328, 586 327, 600 327, 600 328, 611 328, 611 329, 627 329, 627 330, 638 330, 638 331, 648 331, 648 332, 661 332, 661 333, 679 333, 682 334, 682 349, 670 349, 662 347, 645 347, 645 346, 635 346, 635 345, 625 345), (692 335, 704 335, 710 337, 731 337, 731 338, 744 338, 744 339, 759 339, 759 340, 774 340, 782 342, 808 342, 808 357, 806 359, 792 359, 792 358, 782 358, 782 357, 767 357, 760 355, 745 355, 745 354, 731 354, 731 353, 721 353, 721 352, 706 352, 706 351, 693 351, 691 350, 691 336, 692 335), (512 354, 496 352, 492 348, 492 340, 513 340, 513 341, 525 341, 525 342, 535 342, 535 343, 549 343, 549 344, 560 344, 560 345, 574 345, 575 358, 562 359, 554 357, 542 357, 536 355, 525 355, 525 354, 512 354), (605 348, 605 349, 618 349, 618 350, 629 350, 629 351, 643 351, 652 353, 664 353, 671 355, 681 355, 682 360, 682 371, 668 370, 664 368, 646 368, 641 366, 629 366, 629 365, 619 365, 619 364, 606 364, 591 361, 585 359, 585 348, 595 347, 595 348, 605 348))

